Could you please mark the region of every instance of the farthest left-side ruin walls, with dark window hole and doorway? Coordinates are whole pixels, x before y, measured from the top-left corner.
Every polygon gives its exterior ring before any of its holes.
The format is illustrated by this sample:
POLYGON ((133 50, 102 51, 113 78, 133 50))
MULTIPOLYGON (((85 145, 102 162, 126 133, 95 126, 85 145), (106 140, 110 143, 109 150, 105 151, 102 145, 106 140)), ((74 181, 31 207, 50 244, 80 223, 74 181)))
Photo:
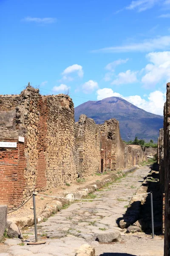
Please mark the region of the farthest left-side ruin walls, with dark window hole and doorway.
POLYGON ((116 119, 105 121, 99 125, 101 132, 101 159, 102 170, 115 171, 147 161, 144 148, 140 145, 126 145, 119 131, 119 122, 116 119))

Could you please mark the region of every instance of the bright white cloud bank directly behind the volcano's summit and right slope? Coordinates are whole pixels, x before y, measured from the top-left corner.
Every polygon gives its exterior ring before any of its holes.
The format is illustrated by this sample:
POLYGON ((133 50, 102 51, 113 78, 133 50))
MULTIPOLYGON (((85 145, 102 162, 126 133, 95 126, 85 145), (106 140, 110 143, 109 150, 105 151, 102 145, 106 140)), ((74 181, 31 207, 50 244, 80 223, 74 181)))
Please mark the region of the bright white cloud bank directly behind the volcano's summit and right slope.
POLYGON ((147 96, 147 100, 142 99, 139 95, 124 97, 120 93, 114 93, 111 88, 103 88, 96 91, 97 100, 108 97, 120 97, 127 100, 138 108, 142 108, 147 112, 163 115, 164 102, 166 101, 166 93, 156 90, 147 96))

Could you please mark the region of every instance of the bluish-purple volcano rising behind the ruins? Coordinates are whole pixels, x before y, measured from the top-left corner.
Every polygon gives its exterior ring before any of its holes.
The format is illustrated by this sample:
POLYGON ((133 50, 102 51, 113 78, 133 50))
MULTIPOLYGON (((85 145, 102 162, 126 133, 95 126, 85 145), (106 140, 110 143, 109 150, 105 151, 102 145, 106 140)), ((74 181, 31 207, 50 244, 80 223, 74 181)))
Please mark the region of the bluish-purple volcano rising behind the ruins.
POLYGON ((81 114, 94 119, 97 124, 115 118, 119 121, 123 140, 139 139, 157 141, 159 129, 163 127, 163 116, 155 115, 136 107, 120 97, 108 97, 99 101, 88 101, 75 108, 75 120, 81 114))

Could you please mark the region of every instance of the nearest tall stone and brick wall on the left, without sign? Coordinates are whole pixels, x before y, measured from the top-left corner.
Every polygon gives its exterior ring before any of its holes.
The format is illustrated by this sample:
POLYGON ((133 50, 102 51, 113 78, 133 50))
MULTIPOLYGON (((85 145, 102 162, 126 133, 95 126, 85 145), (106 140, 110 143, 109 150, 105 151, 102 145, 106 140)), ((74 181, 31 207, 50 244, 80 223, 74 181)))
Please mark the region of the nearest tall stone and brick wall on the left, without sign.
POLYGON ((0 148, 0 202, 13 207, 35 190, 71 183, 77 169, 70 97, 41 96, 28 86, 19 96, 1 96, 0 102, 0 141, 17 142, 17 148, 0 148))

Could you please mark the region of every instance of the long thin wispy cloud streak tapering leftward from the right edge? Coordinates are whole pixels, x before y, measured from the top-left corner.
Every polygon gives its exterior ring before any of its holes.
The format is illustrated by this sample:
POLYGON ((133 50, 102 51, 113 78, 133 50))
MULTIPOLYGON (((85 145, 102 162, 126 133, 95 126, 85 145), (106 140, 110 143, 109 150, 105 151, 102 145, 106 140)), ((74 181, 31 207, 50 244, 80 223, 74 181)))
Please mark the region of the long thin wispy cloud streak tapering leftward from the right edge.
POLYGON ((170 35, 144 40, 141 43, 125 44, 122 46, 105 47, 92 52, 150 52, 170 49, 170 35))

